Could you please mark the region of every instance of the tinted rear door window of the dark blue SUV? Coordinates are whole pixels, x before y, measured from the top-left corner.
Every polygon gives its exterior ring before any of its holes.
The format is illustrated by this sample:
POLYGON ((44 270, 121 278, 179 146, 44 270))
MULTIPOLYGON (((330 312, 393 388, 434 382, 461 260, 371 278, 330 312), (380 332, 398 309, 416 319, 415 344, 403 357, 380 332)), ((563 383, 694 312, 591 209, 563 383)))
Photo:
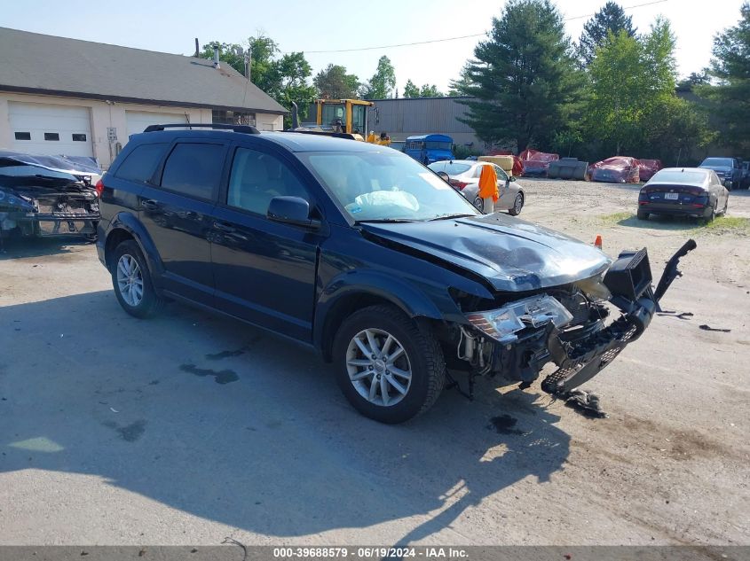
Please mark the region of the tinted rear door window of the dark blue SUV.
POLYGON ((223 145, 177 144, 164 164, 162 188, 196 199, 213 199, 223 167, 223 145))

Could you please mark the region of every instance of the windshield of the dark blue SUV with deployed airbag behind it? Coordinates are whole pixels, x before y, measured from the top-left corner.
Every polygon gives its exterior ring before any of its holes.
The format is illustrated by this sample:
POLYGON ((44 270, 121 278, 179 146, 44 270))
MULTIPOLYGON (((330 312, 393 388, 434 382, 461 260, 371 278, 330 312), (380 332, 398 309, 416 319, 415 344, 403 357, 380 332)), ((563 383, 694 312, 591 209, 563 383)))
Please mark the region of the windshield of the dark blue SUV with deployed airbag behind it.
POLYGON ((357 222, 480 214, 446 182, 399 152, 300 154, 357 222))

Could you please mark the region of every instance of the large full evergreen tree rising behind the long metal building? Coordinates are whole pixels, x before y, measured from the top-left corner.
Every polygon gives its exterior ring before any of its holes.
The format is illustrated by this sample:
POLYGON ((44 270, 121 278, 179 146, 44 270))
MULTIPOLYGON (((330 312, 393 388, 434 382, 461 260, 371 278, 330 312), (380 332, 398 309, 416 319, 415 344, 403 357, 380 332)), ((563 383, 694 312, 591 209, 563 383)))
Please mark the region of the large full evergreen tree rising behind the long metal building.
POLYGON ((465 71, 463 122, 486 143, 549 144, 572 110, 580 74, 549 0, 510 0, 465 71))

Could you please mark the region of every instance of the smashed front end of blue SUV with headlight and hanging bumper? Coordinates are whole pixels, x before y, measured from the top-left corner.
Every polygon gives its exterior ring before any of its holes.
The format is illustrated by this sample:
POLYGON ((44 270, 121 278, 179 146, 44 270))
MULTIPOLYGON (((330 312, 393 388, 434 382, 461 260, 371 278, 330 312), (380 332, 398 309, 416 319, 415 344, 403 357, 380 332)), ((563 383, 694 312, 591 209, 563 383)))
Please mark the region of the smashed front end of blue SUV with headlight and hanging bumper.
MULTIPOLYGON (((469 373, 468 391, 462 393, 471 398, 474 377, 497 374, 528 387, 545 364, 554 362, 557 370, 542 380, 542 390, 572 396, 641 336, 669 284, 680 276, 680 258, 695 247, 689 240, 675 253, 656 290, 643 248, 620 253, 603 275, 503 302, 500 308, 465 310, 470 325, 456 324, 453 329, 460 332, 450 337, 458 340, 455 358, 468 367, 461 369, 469 373)), ((459 385, 454 381, 454 386, 459 385)))

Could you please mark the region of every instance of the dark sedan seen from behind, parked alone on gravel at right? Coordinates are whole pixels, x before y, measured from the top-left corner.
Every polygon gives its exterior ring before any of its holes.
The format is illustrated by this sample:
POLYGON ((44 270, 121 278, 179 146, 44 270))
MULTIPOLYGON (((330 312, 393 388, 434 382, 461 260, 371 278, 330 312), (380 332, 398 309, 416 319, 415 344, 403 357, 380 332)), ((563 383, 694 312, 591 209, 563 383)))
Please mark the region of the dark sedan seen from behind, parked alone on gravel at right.
POLYGON ((714 220, 726 214, 729 191, 712 169, 665 168, 651 177, 638 194, 638 218, 673 214, 714 220))

